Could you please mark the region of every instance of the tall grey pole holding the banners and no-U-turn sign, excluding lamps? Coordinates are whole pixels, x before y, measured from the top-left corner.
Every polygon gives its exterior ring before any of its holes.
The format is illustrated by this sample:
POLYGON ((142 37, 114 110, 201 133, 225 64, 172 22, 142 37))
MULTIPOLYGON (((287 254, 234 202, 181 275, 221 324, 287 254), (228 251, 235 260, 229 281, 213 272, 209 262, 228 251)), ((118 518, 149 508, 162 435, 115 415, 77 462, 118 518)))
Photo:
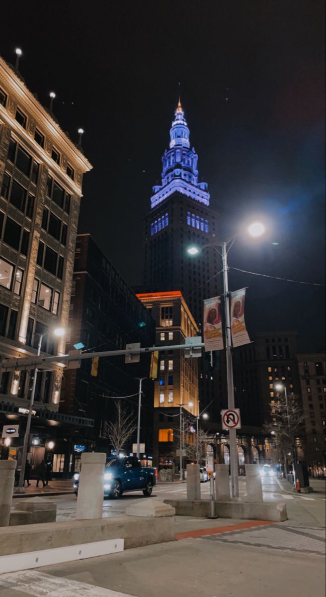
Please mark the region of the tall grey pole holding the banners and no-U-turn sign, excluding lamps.
MULTIPOLYGON (((226 242, 222 243, 222 264, 223 264, 223 286, 224 286, 224 310, 225 310, 225 339, 226 339, 226 378, 228 384, 228 408, 234 408, 234 383, 233 365, 231 352, 231 320, 229 310, 229 281, 228 281, 228 252, 226 242)), ((229 429, 230 445, 230 467, 231 467, 231 494, 232 497, 239 497, 238 483, 238 454, 237 454, 237 430, 229 429)))

